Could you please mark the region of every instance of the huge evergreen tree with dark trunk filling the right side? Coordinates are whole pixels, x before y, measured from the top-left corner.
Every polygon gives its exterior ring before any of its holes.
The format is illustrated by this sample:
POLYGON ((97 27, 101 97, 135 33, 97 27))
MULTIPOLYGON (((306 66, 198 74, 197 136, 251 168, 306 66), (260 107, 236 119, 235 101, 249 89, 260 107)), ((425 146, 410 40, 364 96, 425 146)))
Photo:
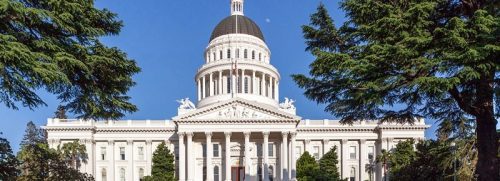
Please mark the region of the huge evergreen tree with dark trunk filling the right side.
POLYGON ((303 26, 316 57, 310 76, 293 76, 305 95, 347 124, 474 117, 479 180, 499 180, 498 3, 343 0, 341 8, 347 22, 338 29, 323 5, 303 26))

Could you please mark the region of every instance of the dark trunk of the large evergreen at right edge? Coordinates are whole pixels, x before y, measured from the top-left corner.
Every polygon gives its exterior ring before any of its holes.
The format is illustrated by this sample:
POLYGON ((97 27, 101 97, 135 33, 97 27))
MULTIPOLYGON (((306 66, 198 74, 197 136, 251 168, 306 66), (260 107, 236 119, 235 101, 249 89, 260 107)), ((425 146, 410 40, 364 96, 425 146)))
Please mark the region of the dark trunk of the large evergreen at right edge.
POLYGON ((481 181, 500 180, 499 162, 497 158, 498 141, 496 133, 497 120, 493 115, 481 115, 476 118, 478 162, 476 172, 481 181))

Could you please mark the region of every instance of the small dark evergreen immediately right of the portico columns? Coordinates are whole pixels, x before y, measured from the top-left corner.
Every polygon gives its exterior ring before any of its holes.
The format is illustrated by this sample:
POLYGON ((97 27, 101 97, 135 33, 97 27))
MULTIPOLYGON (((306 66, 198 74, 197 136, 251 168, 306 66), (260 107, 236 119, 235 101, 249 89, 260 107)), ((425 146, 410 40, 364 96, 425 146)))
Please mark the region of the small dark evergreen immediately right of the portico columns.
POLYGON ((305 151, 297 160, 297 180, 314 181, 319 173, 319 165, 309 152, 305 151))

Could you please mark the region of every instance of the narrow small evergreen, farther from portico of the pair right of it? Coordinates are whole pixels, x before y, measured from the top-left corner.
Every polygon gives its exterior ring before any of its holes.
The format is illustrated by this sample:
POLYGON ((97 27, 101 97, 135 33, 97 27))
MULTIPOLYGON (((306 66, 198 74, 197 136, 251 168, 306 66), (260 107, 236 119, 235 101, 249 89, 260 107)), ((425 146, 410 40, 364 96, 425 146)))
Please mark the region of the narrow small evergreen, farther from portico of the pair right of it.
POLYGON ((334 146, 321 159, 319 159, 320 174, 316 180, 337 181, 342 180, 337 168, 337 146, 334 146))

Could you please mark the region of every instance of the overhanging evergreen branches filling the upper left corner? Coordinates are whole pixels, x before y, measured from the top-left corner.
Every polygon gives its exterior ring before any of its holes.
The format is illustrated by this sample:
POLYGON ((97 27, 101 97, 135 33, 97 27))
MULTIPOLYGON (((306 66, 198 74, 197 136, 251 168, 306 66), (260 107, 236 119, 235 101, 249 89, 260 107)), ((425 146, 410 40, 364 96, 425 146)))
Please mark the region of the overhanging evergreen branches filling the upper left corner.
POLYGON ((44 89, 80 118, 136 111, 126 93, 140 68, 99 40, 122 26, 93 0, 0 0, 0 103, 34 109, 44 89))

